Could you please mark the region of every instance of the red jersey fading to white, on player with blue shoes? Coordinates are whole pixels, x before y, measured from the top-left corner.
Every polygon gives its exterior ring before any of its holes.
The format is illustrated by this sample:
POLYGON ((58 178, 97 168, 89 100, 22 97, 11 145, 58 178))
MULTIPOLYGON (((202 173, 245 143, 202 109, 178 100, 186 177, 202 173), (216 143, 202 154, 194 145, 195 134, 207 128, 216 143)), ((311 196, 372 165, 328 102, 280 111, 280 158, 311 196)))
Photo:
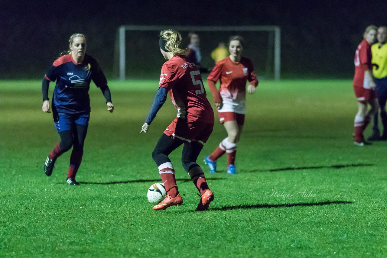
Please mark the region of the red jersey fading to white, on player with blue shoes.
POLYGON ((215 83, 220 80, 219 93, 223 103, 233 103, 233 105, 246 100, 247 80, 255 87, 258 85, 253 62, 244 57, 241 57, 238 63, 231 61, 229 56, 217 62, 207 80, 215 83))

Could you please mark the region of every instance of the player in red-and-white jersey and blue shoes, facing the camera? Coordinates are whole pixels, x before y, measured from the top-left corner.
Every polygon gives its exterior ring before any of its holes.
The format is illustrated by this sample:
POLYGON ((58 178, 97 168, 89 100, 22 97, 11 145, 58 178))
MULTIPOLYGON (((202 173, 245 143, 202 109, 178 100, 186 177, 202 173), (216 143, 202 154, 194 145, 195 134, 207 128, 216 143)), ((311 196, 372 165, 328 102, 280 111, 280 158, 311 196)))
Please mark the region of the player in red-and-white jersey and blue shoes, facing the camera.
POLYGON ((250 94, 255 92, 255 87, 258 85, 253 63, 241 56, 243 45, 244 40, 241 36, 231 36, 230 55, 217 62, 207 78, 219 120, 227 131, 227 138, 204 160, 211 173, 216 172, 216 161, 224 153, 227 153, 227 173, 236 173, 236 143, 239 141, 245 121, 246 82, 249 81, 247 91, 250 94), (218 80, 221 82, 219 92, 215 87, 218 80))

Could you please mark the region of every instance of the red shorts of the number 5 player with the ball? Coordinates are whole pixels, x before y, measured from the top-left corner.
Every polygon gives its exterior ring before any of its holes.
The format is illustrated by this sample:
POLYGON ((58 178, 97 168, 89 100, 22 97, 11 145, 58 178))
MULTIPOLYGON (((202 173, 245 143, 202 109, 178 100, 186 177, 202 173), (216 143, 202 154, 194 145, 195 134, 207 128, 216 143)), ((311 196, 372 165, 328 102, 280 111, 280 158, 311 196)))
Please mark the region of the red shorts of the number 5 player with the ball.
POLYGON ((182 118, 175 118, 164 134, 172 136, 173 139, 180 139, 186 142, 199 142, 204 145, 212 133, 214 124, 202 121, 187 121, 182 118))

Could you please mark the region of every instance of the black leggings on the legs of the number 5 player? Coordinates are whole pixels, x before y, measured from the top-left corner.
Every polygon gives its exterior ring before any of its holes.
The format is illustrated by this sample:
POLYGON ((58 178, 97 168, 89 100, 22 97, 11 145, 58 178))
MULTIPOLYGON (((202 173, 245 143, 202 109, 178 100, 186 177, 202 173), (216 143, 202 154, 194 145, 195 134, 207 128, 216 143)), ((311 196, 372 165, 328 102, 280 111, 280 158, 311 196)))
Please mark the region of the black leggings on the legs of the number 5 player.
POLYGON ((168 155, 177 149, 180 145, 184 144, 182 152, 182 164, 185 171, 190 171, 193 167, 199 166, 196 163, 197 157, 200 154, 200 151, 203 149, 203 145, 199 142, 185 142, 179 139, 173 139, 163 133, 159 138, 156 147, 152 152, 152 158, 156 162, 157 166, 164 164, 165 162, 170 162, 168 155))

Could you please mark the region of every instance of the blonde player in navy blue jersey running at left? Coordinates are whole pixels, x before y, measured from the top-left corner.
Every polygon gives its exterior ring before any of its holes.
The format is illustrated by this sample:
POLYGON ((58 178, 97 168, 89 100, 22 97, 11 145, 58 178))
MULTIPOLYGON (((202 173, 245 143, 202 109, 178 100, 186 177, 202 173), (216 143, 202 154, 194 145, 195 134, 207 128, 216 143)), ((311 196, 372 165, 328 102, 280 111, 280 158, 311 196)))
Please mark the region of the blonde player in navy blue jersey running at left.
POLYGON ((89 88, 91 80, 99 87, 106 99, 108 111, 113 112, 110 90, 106 77, 98 62, 86 54, 86 38, 75 33, 68 40, 70 49, 62 52, 43 77, 42 94, 44 112, 50 113, 48 87, 57 80, 52 99, 54 123, 60 136, 60 142, 48 155, 44 171, 51 176, 54 163, 64 152, 73 147, 70 167, 67 173, 68 185, 79 185, 75 175, 83 156, 84 141, 90 119, 89 88))

